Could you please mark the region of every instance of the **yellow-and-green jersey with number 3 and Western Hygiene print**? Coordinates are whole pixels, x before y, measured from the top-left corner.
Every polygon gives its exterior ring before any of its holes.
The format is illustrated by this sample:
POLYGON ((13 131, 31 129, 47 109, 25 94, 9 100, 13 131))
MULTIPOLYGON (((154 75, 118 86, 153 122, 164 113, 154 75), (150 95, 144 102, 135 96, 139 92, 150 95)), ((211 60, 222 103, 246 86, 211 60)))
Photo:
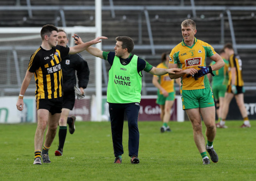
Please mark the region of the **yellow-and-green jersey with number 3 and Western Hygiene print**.
MULTIPOLYGON (((170 53, 170 64, 178 64, 178 68, 200 69, 198 66, 206 66, 206 57, 211 57, 215 54, 215 50, 212 46, 206 42, 194 38, 194 44, 190 47, 184 43, 184 40, 170 53)), ((204 75, 198 80, 195 80, 192 76, 187 78, 187 75, 181 77, 181 90, 197 90, 210 87, 210 82, 207 75, 204 75)))

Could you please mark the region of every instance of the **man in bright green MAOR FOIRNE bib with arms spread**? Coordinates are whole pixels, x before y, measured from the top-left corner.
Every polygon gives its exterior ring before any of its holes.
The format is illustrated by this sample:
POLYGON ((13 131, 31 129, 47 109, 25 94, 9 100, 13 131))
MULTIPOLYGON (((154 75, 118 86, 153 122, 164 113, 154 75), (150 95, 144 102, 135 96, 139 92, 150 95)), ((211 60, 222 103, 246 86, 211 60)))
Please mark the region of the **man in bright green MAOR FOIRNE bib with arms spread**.
MULTIPOLYGON (((114 148, 114 163, 122 163, 122 131, 124 113, 128 119, 129 141, 128 150, 131 163, 139 163, 139 129, 138 115, 141 101, 141 71, 144 70, 153 75, 175 74, 181 71, 178 68, 155 68, 146 60, 132 54, 134 42, 130 37, 117 37, 115 51, 102 51, 95 47, 86 49, 89 53, 101 59, 107 60, 111 65, 107 90, 107 102, 109 103, 109 115, 111 121, 112 141, 114 148)), ((76 43, 82 43, 77 38, 76 43)))

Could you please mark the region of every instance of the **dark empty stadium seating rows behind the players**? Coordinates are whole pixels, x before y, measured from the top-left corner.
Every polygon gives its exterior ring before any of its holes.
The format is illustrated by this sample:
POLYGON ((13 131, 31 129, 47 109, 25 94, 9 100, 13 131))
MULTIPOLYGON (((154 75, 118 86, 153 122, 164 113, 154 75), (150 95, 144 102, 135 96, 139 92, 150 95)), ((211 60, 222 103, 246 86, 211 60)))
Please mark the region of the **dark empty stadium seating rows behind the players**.
MULTIPOLYGON (((77 6, 93 6, 94 0, 30 0, 31 5, 77 5, 77 6)), ((113 1, 114 5, 172 5, 172 6, 190 6, 190 0, 130 0, 130 1, 113 1)), ((2 5, 16 5, 16 0, 1 0, 2 5)), ((26 0, 20 0, 20 5, 26 5, 26 0)), ((109 0, 102 0, 102 5, 109 5, 109 0)), ((251 0, 197 0, 196 6, 256 6, 255 1, 251 0)), ((60 6, 61 7, 61 6, 60 6)), ((150 38, 148 36, 147 24, 145 21, 145 14, 143 11, 124 11, 115 10, 115 17, 111 15, 111 11, 102 11, 102 35, 109 37, 108 41, 103 42, 103 46, 113 47, 115 44, 115 37, 117 36, 129 36, 134 39, 135 45, 150 45, 150 38), (141 39, 139 37, 139 24, 138 19, 142 20, 141 39)), ((37 10, 32 11, 33 16, 29 17, 28 11, 1 11, 0 12, 0 26, 1 27, 30 27, 30 26, 43 26, 44 24, 55 24, 56 26, 62 26, 61 20, 56 21, 56 17, 60 16, 57 11, 45 11, 37 10), (47 13, 45 13, 47 12, 47 13), (11 21, 10 21, 11 20, 11 21)), ((237 44, 255 44, 256 35, 253 32, 256 27, 256 18, 254 11, 231 11, 234 33, 236 36, 237 44)), ((180 32, 180 23, 186 18, 192 18, 197 23, 197 37, 200 40, 208 42, 211 45, 221 45, 226 42, 232 42, 230 35, 230 28, 228 24, 228 17, 226 12, 219 11, 196 11, 197 17, 193 17, 192 10, 173 10, 173 11, 148 11, 152 37, 154 45, 175 45, 182 40, 180 32), (221 18, 220 15, 224 15, 224 41, 221 40, 221 18)), ((65 11, 65 22, 67 26, 94 26, 95 24, 95 12, 89 11, 65 11)), ((106 51, 112 51, 113 48, 105 49, 106 51)), ((156 49, 156 54, 152 55, 150 49, 139 50, 134 49, 134 53, 145 58, 150 64, 156 66, 160 63, 161 53, 169 49, 156 49)), ((219 49, 216 49, 219 51, 219 49)), ((243 60, 243 75, 247 85, 255 82, 255 49, 238 49, 238 53, 243 60)), ((210 60, 208 61, 210 63, 210 60)), ((108 64, 106 63, 108 68, 108 64)), ((156 93, 156 89, 152 85, 152 75, 144 73, 143 81, 147 87, 152 87, 153 91, 148 93, 156 93)), ((150 90, 150 89, 148 89, 150 90)))

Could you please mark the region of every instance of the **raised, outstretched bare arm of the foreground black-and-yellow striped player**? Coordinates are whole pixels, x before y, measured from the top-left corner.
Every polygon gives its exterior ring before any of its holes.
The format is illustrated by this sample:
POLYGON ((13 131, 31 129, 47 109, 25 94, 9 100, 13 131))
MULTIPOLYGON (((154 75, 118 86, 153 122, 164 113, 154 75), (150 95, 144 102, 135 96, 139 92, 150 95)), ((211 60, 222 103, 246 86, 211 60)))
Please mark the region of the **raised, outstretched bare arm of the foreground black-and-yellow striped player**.
MULTIPOLYGON (((74 34, 74 36, 76 36, 76 35, 74 34)), ((76 38, 76 39, 81 39, 81 38, 76 38)), ((77 46, 70 47, 69 48, 69 54, 76 54, 76 53, 79 53, 81 51, 84 51, 89 46, 102 42, 101 41, 102 39, 108 39, 108 38, 107 37, 97 37, 94 40, 91 40, 89 42, 81 43, 81 44, 78 44, 77 46)))

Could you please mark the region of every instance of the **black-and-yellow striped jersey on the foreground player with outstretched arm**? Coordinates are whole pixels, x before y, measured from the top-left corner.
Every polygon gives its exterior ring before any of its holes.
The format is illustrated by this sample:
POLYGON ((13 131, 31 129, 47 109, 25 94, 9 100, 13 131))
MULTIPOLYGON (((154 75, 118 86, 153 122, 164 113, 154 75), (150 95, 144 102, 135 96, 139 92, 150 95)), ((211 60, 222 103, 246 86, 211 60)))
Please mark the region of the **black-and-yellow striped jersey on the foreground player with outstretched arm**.
POLYGON ((61 59, 69 53, 69 48, 59 46, 45 50, 41 46, 30 57, 28 71, 35 75, 36 99, 54 99, 62 97, 63 82, 61 59))

